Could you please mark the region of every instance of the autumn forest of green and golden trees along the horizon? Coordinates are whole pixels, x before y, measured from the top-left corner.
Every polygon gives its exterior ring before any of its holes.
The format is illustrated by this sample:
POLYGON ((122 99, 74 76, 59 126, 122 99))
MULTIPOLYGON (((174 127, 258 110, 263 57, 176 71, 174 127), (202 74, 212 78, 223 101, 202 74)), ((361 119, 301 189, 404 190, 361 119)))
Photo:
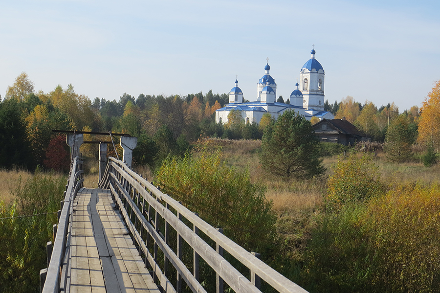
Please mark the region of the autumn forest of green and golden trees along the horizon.
MULTIPOLYGON (((270 114, 264 114, 257 125, 244 123, 240 112, 231 111, 226 123, 216 123, 215 111, 227 102, 228 94, 214 94, 212 90, 186 96, 141 93, 137 98, 124 93, 118 101, 98 97, 91 101, 86 95, 76 93, 71 84, 66 88, 58 85, 49 92, 36 92, 34 83, 22 72, 0 101, 0 165, 31 170, 37 165, 57 165, 47 158, 52 152, 49 145, 61 141, 52 133, 54 129, 111 131, 136 136, 140 147, 134 161, 151 166, 160 164, 168 153, 183 154, 189 143, 200 136, 261 139, 271 123, 270 114)), ((403 139, 403 144, 408 145, 419 141, 437 150, 440 135, 434 134, 439 130, 433 125, 439 123, 431 121, 440 119, 440 114, 438 107, 430 105, 436 104, 427 98, 422 109, 413 106, 399 113, 394 103, 377 108, 372 102, 361 104, 348 96, 339 103, 326 101, 325 110, 334 113, 335 118, 345 117, 374 141, 403 139)), ((313 118, 311 122, 317 121, 313 118)))

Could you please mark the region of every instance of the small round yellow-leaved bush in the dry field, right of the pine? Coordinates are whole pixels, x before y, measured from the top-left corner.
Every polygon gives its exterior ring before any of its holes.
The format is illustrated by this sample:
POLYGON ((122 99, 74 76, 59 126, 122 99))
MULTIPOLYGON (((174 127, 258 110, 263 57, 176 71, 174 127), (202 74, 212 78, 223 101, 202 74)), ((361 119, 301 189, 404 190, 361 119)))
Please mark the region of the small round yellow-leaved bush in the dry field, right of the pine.
POLYGON ((326 207, 333 211, 338 211, 346 203, 369 200, 384 192, 378 167, 366 154, 358 158, 351 153, 346 160, 339 157, 327 185, 326 207))

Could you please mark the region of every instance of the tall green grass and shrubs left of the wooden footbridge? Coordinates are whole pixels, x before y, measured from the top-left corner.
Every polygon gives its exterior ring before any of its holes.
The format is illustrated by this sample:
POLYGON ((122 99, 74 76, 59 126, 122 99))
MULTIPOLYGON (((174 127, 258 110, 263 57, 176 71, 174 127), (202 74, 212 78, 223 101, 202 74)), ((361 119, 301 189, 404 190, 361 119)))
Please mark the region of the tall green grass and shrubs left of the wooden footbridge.
POLYGON ((46 242, 53 239, 66 185, 65 176, 38 170, 23 178, 15 181, 13 199, 0 201, 0 292, 39 292, 46 242), (42 213, 49 214, 35 215, 42 213))

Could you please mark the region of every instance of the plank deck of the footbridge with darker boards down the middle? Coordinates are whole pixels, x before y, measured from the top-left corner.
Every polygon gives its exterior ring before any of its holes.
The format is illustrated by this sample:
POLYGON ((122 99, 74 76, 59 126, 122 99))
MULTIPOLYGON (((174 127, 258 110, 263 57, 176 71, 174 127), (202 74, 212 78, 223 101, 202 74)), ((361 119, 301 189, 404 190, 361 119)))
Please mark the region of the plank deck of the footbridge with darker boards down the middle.
POLYGON ((73 205, 71 293, 159 293, 114 210, 110 191, 83 188, 73 205))

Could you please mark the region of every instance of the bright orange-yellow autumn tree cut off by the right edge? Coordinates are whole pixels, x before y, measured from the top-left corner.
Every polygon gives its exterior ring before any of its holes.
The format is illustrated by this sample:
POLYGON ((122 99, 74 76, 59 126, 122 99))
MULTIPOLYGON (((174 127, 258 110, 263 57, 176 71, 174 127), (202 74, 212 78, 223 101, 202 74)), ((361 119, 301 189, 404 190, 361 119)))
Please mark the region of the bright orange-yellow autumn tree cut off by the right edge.
POLYGON ((440 147, 440 80, 428 93, 420 108, 418 142, 438 149, 440 147))

